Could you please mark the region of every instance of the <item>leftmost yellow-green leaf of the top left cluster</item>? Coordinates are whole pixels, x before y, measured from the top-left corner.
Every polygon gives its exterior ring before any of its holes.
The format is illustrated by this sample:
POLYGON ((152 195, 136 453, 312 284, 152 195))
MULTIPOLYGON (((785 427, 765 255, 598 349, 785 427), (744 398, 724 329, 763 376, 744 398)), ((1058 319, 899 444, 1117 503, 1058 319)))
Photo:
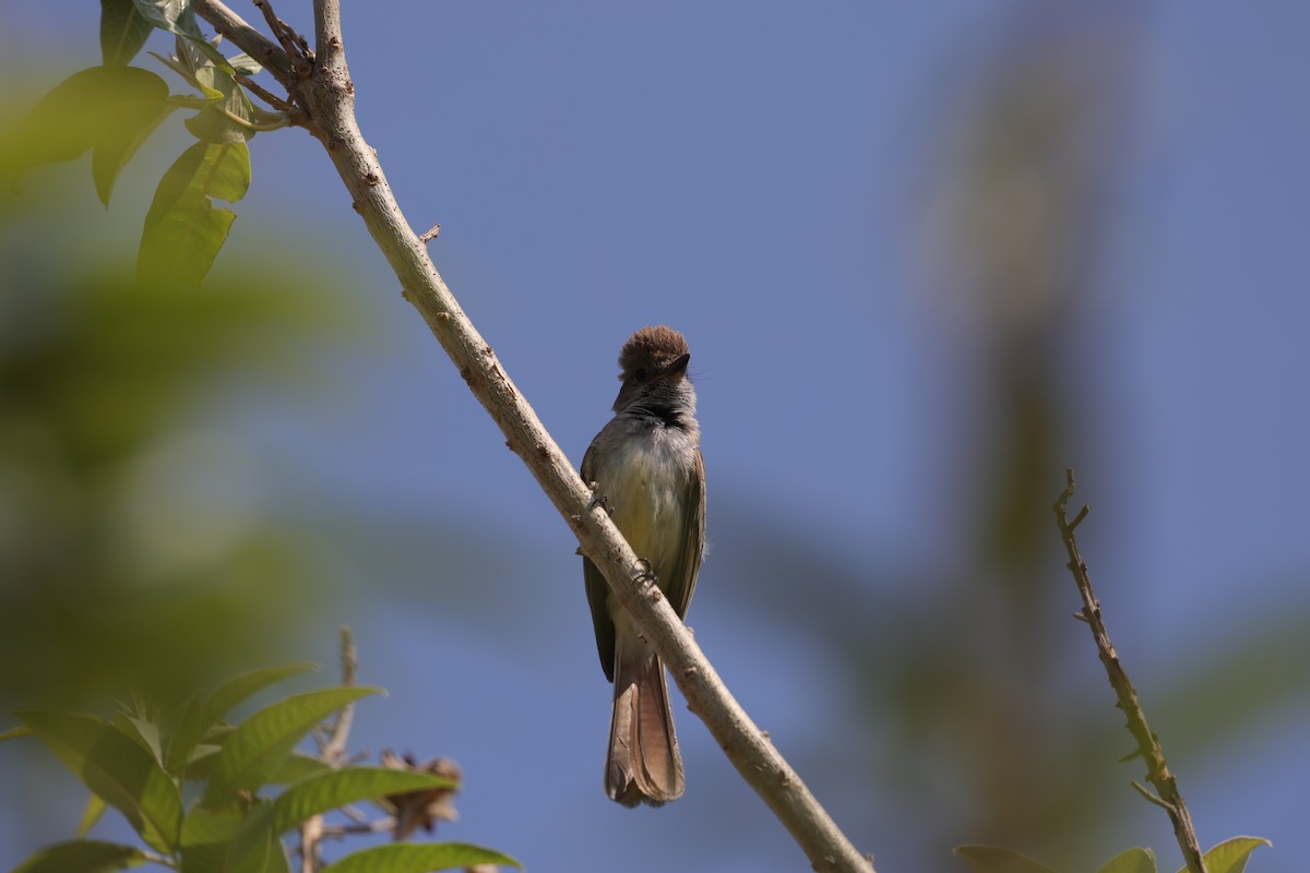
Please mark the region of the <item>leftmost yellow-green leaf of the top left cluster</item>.
POLYGON ((42 97, 18 130, 17 166, 71 161, 101 144, 122 152, 168 114, 166 101, 164 80, 138 67, 76 72, 42 97))

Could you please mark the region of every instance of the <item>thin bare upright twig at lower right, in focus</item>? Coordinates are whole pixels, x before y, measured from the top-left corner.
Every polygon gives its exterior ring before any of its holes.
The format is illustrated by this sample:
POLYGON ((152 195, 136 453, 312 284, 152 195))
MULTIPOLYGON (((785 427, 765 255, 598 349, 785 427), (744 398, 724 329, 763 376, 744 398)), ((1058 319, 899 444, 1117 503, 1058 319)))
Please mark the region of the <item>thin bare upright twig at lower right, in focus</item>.
POLYGON ((1069 499, 1073 497, 1076 487, 1073 467, 1065 470, 1065 490, 1060 492, 1060 499, 1056 500, 1053 509, 1056 513, 1056 525, 1060 527, 1060 539, 1069 552, 1069 569, 1073 572, 1073 580, 1078 585, 1078 593, 1082 594, 1082 613, 1077 618, 1081 618, 1091 627, 1091 636, 1096 641, 1096 652, 1100 654, 1100 662, 1106 666, 1110 685, 1119 698, 1119 708, 1128 717, 1128 732, 1137 741, 1137 753, 1131 755, 1131 758, 1136 758, 1140 754, 1146 759, 1146 777, 1159 793, 1151 794, 1137 781, 1133 781, 1132 785, 1146 800, 1157 806, 1162 806, 1169 813, 1169 819, 1174 823, 1174 836, 1178 838, 1178 847, 1183 852, 1183 859, 1187 861, 1189 873, 1208 873, 1205 859, 1201 857, 1201 846, 1196 838, 1196 827, 1192 825, 1187 804, 1178 791, 1178 777, 1169 771, 1169 764, 1165 762, 1165 750, 1146 724, 1146 713, 1142 712, 1141 702, 1137 699, 1137 690, 1128 679, 1128 673, 1124 670, 1124 665, 1119 661, 1119 654, 1110 641, 1110 631, 1106 630, 1106 623, 1100 615, 1100 602, 1091 590, 1091 576, 1087 573, 1087 561, 1078 554, 1078 541, 1074 538, 1074 529, 1087 517, 1089 507, 1083 504, 1074 520, 1069 521, 1066 507, 1069 499))

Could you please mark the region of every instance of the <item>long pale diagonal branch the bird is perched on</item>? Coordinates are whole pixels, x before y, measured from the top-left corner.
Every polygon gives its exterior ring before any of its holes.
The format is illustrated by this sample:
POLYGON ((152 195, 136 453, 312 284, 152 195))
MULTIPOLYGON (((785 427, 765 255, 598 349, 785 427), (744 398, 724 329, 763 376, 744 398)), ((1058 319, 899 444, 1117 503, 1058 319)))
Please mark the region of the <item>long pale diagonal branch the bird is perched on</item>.
POLYGON ((689 708, 738 772, 791 832, 814 869, 872 873, 872 863, 846 839, 724 687, 605 510, 592 505, 590 490, 432 266, 356 123, 355 88, 346 67, 337 0, 314 3, 317 56, 313 73, 303 81, 290 75, 286 52, 263 37, 252 37, 249 26, 219 0, 195 0, 195 9, 233 43, 253 58, 267 59, 267 65, 282 73, 278 80, 309 114, 310 131, 328 149, 355 211, 396 272, 403 297, 422 314, 469 390, 504 433, 508 448, 523 458, 569 524, 582 552, 600 568, 618 602, 664 658, 689 708), (274 64, 275 59, 280 65, 274 64))

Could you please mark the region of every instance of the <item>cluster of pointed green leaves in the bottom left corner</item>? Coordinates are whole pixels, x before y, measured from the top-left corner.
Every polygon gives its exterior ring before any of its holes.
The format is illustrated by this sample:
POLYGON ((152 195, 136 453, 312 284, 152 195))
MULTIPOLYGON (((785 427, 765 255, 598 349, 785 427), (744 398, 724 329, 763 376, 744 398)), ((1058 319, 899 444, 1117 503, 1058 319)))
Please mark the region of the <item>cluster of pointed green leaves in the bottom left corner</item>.
MULTIPOLYGON (((284 873, 280 838, 348 804, 453 789, 457 780, 386 767, 334 768, 296 746, 325 719, 380 688, 339 686, 296 694, 240 724, 227 713, 265 687, 313 669, 307 664, 237 675, 204 700, 161 705, 132 696, 111 719, 56 709, 21 709, 21 725, 0 739, 34 736, 90 791, 77 838, 47 846, 14 873, 121 870, 147 861, 181 873, 284 873), (280 793, 265 796, 270 787, 280 793), (186 802, 185 797, 194 797, 186 802), (109 809, 141 839, 128 846, 86 839, 109 809)), ((464 843, 392 843, 352 852, 333 870, 397 873, 519 864, 464 843)))

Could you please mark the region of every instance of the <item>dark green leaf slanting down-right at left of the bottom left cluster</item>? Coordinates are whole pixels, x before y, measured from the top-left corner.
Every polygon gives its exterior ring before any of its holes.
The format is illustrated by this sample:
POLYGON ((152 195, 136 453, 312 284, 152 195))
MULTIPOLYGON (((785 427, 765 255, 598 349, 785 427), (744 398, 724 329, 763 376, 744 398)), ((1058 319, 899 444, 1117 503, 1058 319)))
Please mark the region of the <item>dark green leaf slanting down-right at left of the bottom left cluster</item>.
POLYGON ((182 797, 148 751, 93 716, 42 709, 16 715, 152 848, 170 852, 177 846, 182 797))

